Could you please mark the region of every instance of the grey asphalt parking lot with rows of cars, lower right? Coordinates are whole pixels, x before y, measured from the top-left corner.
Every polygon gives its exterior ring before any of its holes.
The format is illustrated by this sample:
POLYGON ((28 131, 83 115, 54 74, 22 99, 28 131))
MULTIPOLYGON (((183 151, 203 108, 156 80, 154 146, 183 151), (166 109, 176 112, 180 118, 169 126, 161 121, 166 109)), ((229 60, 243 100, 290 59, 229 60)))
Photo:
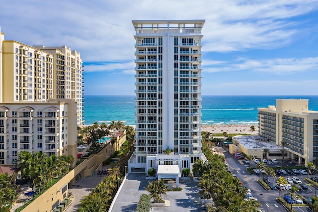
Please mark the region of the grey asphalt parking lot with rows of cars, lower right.
MULTIPOLYGON (((221 148, 220 148, 221 149, 221 148)), ((249 174, 246 169, 250 167, 256 168, 256 164, 254 162, 250 162, 250 164, 245 164, 243 160, 238 160, 236 159, 232 154, 230 154, 227 151, 223 151, 225 157, 226 157, 226 162, 228 163, 230 169, 233 171, 235 175, 238 176, 239 180, 244 183, 244 186, 246 186, 248 189, 251 190, 251 194, 253 197, 255 197, 262 205, 261 209, 271 212, 286 212, 287 210, 278 202, 276 201, 276 198, 278 195, 280 197, 283 197, 284 194, 288 194, 289 190, 284 190, 283 193, 278 190, 271 190, 267 191, 265 190, 258 182, 257 179, 262 179, 263 175, 262 174, 249 174)), ((280 160, 278 160, 278 163, 272 163, 271 161, 268 161, 266 164, 269 167, 280 167, 281 163, 280 160)), ((283 163, 283 166, 299 166, 299 164, 295 163, 294 161, 286 160, 283 163)), ((318 195, 317 189, 312 186, 311 184, 308 184, 307 182, 304 181, 305 178, 307 178, 307 175, 302 175, 302 174, 279 174, 275 178, 269 176, 268 179, 270 180, 271 183, 276 183, 277 179, 279 176, 284 177, 285 179, 287 177, 291 178, 292 177, 297 177, 299 178, 302 183, 305 183, 308 186, 307 190, 299 191, 298 194, 306 197, 313 197, 318 195)), ((314 177, 317 175, 309 175, 310 177, 314 177)), ((293 209, 297 212, 311 212, 311 210, 308 207, 296 207, 294 206, 293 209)))

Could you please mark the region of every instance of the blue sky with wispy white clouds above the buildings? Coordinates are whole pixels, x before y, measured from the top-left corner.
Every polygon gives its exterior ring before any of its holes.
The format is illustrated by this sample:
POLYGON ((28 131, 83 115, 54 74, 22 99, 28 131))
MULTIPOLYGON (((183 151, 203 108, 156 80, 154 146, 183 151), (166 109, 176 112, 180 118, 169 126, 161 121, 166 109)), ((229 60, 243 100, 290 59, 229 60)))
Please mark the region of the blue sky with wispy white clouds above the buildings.
POLYGON ((134 95, 132 20, 205 19, 202 95, 318 95, 318 0, 1 0, 5 40, 80 53, 85 95, 134 95))

